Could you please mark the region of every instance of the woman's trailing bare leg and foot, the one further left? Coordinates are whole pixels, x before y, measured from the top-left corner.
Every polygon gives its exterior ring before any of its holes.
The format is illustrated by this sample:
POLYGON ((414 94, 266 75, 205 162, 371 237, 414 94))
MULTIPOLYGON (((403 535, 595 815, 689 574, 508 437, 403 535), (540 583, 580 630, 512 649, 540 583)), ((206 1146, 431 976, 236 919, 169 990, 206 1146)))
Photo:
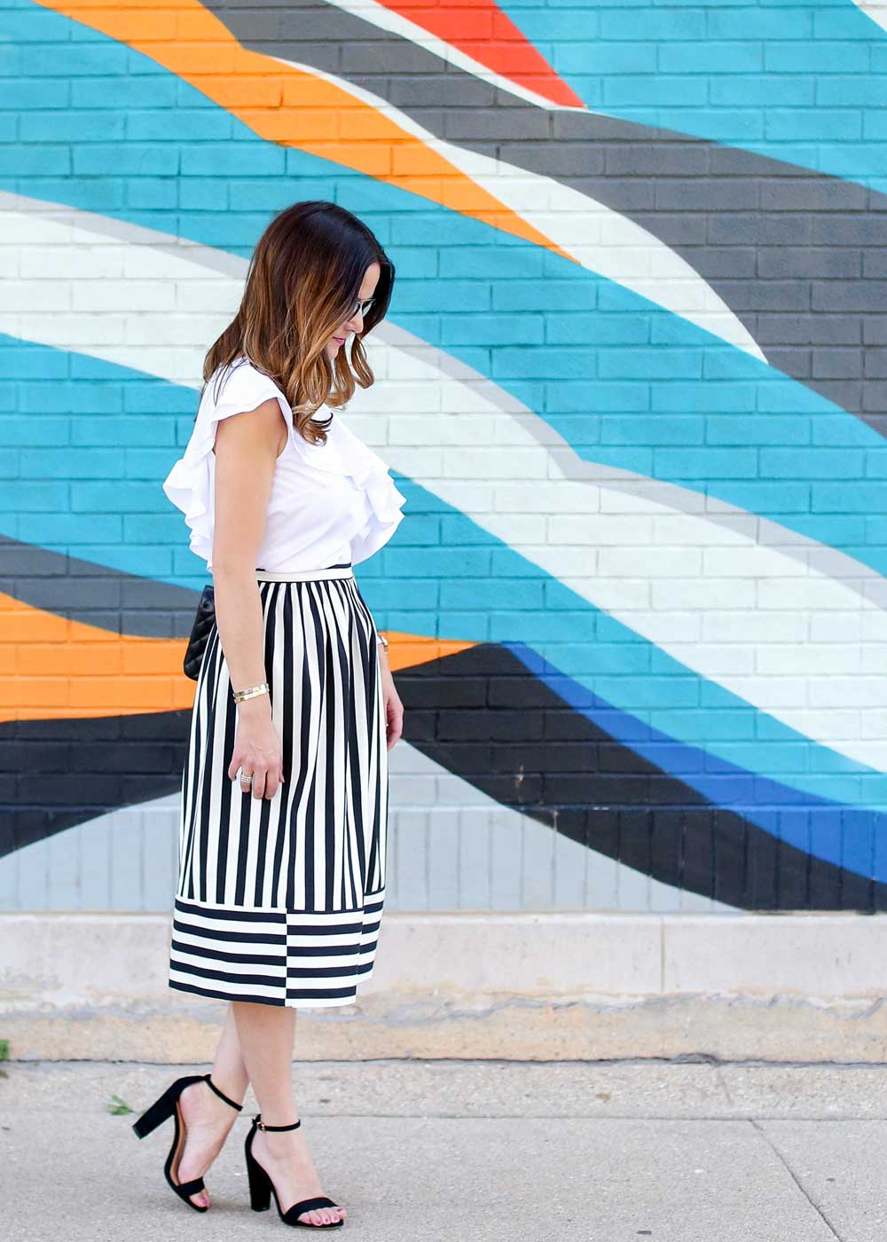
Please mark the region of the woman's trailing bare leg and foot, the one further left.
MULTIPOLYGON (((224 1090, 237 1104, 242 1102, 250 1079, 240 1053, 237 1027, 230 1005, 225 1013, 225 1025, 216 1047, 211 1076, 219 1090, 224 1090)), ((176 1181, 183 1182, 204 1176, 221 1151, 237 1114, 224 1099, 219 1099, 206 1083, 191 1083, 190 1087, 185 1087, 180 1099, 188 1135, 185 1150, 181 1153, 174 1176, 176 1181)), ((210 1197, 205 1190, 201 1190, 196 1195, 191 1195, 191 1202, 209 1206, 210 1197)))

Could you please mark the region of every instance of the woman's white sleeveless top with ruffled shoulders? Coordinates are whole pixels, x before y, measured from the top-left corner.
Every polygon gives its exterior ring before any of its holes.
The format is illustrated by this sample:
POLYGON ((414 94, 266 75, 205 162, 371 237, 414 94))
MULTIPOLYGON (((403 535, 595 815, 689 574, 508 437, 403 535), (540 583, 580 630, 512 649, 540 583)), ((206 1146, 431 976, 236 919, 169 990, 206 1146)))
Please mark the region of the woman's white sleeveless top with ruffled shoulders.
MULTIPOLYGON (((220 370, 220 369, 219 369, 220 370)), ((388 466, 350 431, 339 410, 325 404, 316 419, 333 415, 325 445, 309 445, 296 427, 286 394, 246 358, 220 379, 214 371, 200 399, 184 456, 163 489, 185 514, 190 548, 212 569, 216 426, 231 414, 277 397, 289 436, 277 458, 256 568, 284 574, 366 560, 396 530, 406 503, 388 466), (215 394, 219 389, 219 400, 215 394)))

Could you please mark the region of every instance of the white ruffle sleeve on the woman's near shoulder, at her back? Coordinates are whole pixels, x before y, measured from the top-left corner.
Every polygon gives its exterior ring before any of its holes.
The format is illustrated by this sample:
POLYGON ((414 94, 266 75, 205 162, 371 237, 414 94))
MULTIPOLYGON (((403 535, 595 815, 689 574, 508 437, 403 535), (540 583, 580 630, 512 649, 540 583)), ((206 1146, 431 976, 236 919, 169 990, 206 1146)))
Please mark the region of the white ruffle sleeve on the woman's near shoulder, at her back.
POLYGON ((292 410, 273 380, 250 363, 235 364, 221 379, 214 373, 204 390, 184 456, 173 466, 163 482, 168 499, 185 514, 185 524, 191 532, 191 551, 207 563, 212 554, 215 469, 212 446, 216 426, 232 414, 255 410, 268 397, 277 397, 292 438, 292 410))

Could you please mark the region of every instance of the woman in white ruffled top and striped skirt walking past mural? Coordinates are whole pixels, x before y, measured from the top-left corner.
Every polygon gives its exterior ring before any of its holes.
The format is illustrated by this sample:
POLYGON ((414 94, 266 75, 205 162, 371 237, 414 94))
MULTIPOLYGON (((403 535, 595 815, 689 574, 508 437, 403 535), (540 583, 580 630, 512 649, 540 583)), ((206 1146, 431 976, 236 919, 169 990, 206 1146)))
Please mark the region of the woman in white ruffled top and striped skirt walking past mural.
POLYGON ((174 1119, 166 1181, 206 1211, 202 1174, 252 1083, 251 1205, 273 1194, 286 1223, 314 1228, 347 1212, 297 1129, 296 1010, 347 1005, 371 975, 386 751, 404 714, 352 566, 390 539, 405 497, 338 412, 373 383, 362 338, 393 281, 344 209, 278 215, 206 355, 194 431, 164 482, 212 573, 216 611, 183 773, 169 985, 230 1005, 211 1073, 178 1079, 134 1129, 174 1119))

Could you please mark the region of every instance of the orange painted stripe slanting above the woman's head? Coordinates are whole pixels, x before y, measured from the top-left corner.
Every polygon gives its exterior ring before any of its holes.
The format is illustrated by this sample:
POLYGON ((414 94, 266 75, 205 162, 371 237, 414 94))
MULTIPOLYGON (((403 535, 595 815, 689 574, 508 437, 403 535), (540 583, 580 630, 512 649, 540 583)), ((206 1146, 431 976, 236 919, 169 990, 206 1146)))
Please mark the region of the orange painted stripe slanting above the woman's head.
POLYGON ((198 0, 37 0, 189 82, 253 133, 355 169, 573 261, 544 233, 378 108, 242 47, 198 0), (321 135, 321 137, 318 137, 321 135))

